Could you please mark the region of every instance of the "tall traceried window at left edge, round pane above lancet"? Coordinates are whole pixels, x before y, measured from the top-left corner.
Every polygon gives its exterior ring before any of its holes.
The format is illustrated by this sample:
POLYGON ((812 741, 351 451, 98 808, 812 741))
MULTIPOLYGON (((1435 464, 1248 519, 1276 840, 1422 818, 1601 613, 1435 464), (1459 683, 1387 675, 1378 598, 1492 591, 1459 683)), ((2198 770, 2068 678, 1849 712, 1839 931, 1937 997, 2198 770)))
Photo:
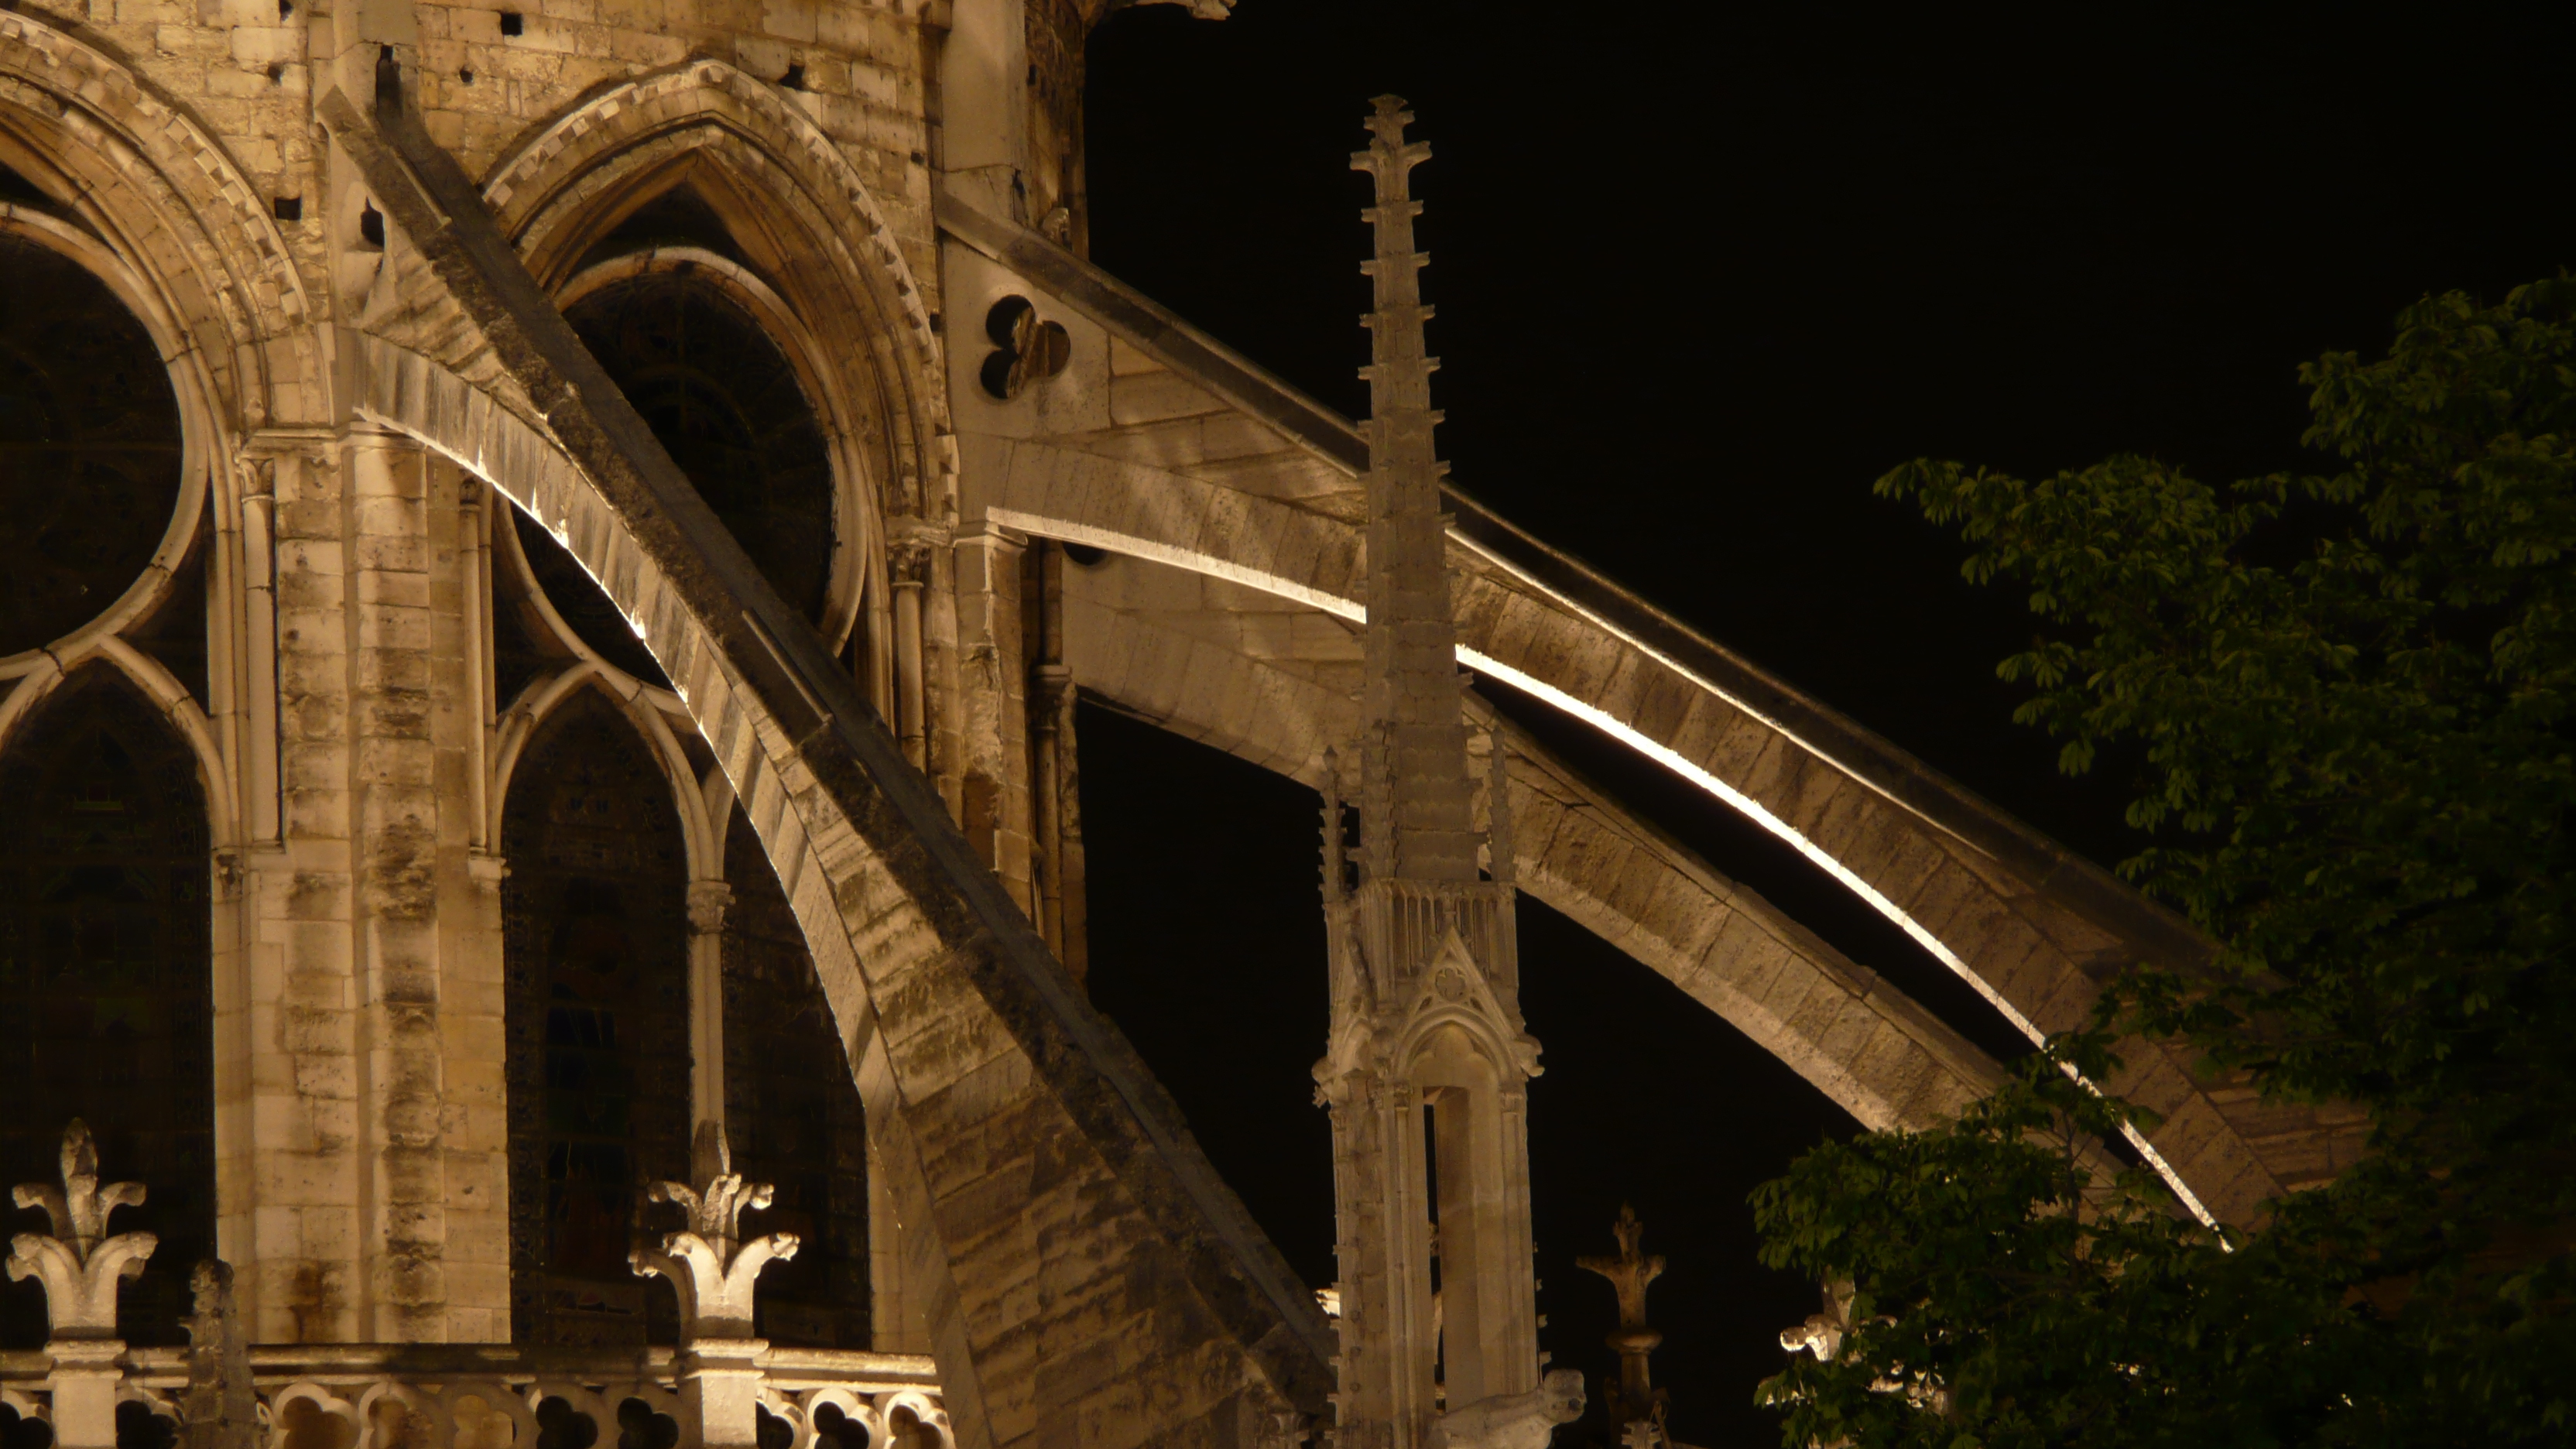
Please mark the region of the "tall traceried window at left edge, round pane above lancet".
MULTIPOLYGON (((204 474, 124 297, 108 248, 0 173, 0 1189, 54 1181, 88 1122, 152 1189, 116 1222, 160 1238, 118 1328, 165 1346, 216 1225, 214 828, 160 704, 206 696, 204 474), (167 670, 149 696, 98 657, 116 634, 167 670)), ((0 1289, 0 1348, 44 1338, 44 1294, 0 1289)))

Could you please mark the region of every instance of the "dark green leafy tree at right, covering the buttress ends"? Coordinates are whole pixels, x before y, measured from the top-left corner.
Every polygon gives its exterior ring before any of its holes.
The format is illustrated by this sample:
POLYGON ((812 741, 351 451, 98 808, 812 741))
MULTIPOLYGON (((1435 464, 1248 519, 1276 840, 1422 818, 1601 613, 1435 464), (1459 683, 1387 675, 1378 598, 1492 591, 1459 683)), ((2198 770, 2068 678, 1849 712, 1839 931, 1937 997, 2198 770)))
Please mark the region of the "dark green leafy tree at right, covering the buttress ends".
POLYGON ((2329 472, 1878 482, 2027 588, 2017 719, 2141 761, 2123 874, 2221 954, 1757 1194, 1772 1266, 1852 1287, 1839 1356, 1765 1385, 1788 1444, 2576 1441, 2576 281, 2300 376, 2329 472), (2074 1147, 2130 1109, 2066 1067, 2136 1034, 2365 1106, 2370 1155, 2202 1230, 2074 1147))

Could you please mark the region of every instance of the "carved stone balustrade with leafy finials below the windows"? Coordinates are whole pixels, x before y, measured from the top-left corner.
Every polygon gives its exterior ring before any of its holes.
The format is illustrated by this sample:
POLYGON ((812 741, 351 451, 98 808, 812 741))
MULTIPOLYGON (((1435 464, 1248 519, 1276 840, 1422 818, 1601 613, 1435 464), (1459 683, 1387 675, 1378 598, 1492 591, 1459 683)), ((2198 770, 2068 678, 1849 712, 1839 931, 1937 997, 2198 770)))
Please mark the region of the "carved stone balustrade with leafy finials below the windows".
POLYGON ((768 1191, 729 1173, 701 1132, 701 1186, 659 1183, 690 1225, 636 1250, 639 1274, 680 1292, 672 1348, 510 1343, 240 1343, 232 1274, 196 1274, 191 1348, 116 1338, 116 1281, 142 1271, 149 1232, 108 1235, 139 1183, 98 1186, 82 1124, 62 1186, 21 1186, 52 1235, 10 1240, 10 1279, 39 1279, 52 1338, 0 1351, 0 1449, 956 1449, 938 1372, 920 1354, 778 1348, 752 1338, 760 1263, 791 1235, 742 1240, 768 1191))

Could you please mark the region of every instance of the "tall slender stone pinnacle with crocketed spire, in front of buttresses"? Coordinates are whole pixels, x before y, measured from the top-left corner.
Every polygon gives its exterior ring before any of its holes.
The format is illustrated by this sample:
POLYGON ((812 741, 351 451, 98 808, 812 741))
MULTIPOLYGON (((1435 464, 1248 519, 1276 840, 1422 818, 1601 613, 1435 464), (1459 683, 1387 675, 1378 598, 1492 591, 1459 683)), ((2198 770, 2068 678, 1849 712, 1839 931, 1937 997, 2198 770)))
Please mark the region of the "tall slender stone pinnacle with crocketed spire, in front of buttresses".
MULTIPOLYGON (((1520 1021, 1502 810, 1494 879, 1479 871, 1422 351, 1422 204, 1409 196, 1430 147, 1406 142, 1406 124, 1401 101, 1378 98, 1370 147, 1352 157, 1376 180, 1378 237, 1363 374, 1368 681, 1355 871, 1342 856, 1345 755, 1324 758, 1332 1039, 1314 1067, 1334 1145, 1340 1449, 1522 1441, 1530 1428, 1546 1441, 1546 1423, 1582 1405, 1579 1374, 1548 1374, 1540 1390, 1525 1096, 1538 1042, 1520 1021)), ((1499 761, 1492 781, 1504 781, 1499 761)))

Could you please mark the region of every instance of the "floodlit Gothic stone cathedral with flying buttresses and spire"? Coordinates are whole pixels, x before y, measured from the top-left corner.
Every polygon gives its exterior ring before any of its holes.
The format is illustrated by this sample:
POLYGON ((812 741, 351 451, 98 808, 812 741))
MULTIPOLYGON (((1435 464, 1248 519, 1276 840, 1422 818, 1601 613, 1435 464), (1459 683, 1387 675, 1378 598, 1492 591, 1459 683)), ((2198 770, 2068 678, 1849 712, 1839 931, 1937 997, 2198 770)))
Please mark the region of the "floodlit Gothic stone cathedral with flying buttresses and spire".
POLYGON ((1468 676, 2032 1034, 2187 949, 1445 477, 1401 101, 1370 418, 1095 268, 1121 3, 0 3, 8 1449, 1538 1449, 1520 892, 1868 1127, 1996 1065, 1468 676), (1324 799, 1332 1284, 1090 1006, 1077 699, 1324 799))

